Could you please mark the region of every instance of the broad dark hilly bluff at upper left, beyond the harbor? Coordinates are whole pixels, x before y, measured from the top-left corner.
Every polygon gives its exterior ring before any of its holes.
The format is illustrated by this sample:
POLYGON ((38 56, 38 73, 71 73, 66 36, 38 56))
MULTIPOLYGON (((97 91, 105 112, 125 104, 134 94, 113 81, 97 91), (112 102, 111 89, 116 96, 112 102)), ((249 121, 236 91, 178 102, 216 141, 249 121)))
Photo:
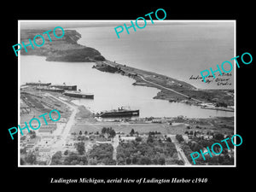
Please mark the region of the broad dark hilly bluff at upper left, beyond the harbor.
MULTIPOLYGON (((42 35, 45 30, 21 30, 20 42, 29 44, 29 38, 33 40, 36 35, 42 35)), ((60 36, 56 32, 57 36, 60 36)), ((51 42, 46 34, 44 34, 44 45, 42 47, 27 46, 20 50, 21 55, 39 55, 46 56, 46 61, 68 61, 68 62, 82 62, 82 61, 105 61, 101 53, 93 48, 78 44, 81 35, 75 30, 65 30, 65 35, 62 38, 55 38, 53 32, 49 32, 51 42)), ((42 39, 37 38, 37 44, 42 44, 42 39), (41 41, 41 42, 40 42, 41 41)))

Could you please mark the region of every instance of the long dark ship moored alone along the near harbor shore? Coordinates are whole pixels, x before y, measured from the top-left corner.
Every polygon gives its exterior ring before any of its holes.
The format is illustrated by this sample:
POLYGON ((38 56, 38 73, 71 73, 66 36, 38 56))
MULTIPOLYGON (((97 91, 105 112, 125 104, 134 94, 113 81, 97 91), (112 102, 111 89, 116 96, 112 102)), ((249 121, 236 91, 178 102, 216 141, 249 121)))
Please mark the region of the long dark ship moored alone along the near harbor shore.
POLYGON ((139 110, 130 110, 125 108, 118 108, 117 110, 110 110, 101 113, 96 113, 96 117, 110 118, 110 117, 131 117, 139 116, 139 110))

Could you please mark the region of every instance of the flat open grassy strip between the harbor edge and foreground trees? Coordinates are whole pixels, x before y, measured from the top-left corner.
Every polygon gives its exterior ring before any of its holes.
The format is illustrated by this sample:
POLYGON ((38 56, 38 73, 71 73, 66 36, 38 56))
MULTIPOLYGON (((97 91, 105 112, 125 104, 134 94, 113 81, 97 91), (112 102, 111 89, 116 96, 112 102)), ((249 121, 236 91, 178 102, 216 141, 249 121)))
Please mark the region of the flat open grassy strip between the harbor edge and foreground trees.
POLYGON ((200 131, 204 134, 207 132, 219 132, 223 134, 233 134, 234 133, 234 119, 232 118, 216 118, 216 119, 208 119, 208 120, 198 120, 195 124, 189 123, 177 123, 172 125, 167 125, 166 123, 120 123, 120 122, 77 122, 76 125, 73 125, 70 133, 79 131, 87 132, 96 132, 102 131, 103 127, 112 127, 116 132, 124 132, 125 134, 129 134, 131 129, 134 131, 138 131, 140 134, 148 133, 149 131, 158 131, 164 135, 171 134, 184 134, 185 131, 200 131), (209 123, 208 123, 208 122, 209 123))

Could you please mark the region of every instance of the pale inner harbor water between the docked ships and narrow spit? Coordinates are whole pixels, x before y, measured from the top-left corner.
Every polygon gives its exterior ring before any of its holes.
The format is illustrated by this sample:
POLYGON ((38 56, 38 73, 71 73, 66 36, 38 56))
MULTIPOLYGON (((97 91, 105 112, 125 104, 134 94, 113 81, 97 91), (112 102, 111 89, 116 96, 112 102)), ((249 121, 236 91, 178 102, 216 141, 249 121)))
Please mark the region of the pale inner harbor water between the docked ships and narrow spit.
POLYGON ((45 61, 41 56, 20 57, 20 83, 51 82, 52 84, 77 84, 84 92, 92 92, 94 100, 78 99, 75 102, 93 112, 129 106, 140 109, 140 117, 187 117, 233 116, 234 113, 201 109, 183 103, 154 100, 159 90, 134 86, 133 79, 113 73, 102 73, 88 62, 45 61))

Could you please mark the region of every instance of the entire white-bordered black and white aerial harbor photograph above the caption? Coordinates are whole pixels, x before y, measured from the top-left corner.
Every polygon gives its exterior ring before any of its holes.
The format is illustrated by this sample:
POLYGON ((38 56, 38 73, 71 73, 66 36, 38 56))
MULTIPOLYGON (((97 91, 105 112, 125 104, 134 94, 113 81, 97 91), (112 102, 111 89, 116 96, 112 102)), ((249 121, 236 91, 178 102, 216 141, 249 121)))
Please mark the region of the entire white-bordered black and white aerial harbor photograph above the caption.
POLYGON ((133 23, 19 20, 19 166, 236 166, 236 20, 133 23))

